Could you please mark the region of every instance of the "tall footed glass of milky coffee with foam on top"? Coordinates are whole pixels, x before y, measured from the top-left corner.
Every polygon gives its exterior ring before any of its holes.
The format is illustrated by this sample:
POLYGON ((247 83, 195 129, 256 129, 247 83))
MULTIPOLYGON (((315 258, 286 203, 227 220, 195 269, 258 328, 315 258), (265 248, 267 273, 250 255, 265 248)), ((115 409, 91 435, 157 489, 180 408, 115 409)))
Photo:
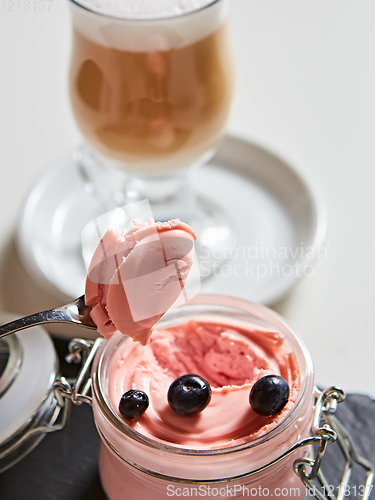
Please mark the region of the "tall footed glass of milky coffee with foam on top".
POLYGON ((190 223, 198 256, 215 248, 214 266, 218 247, 234 245, 232 224, 196 195, 189 173, 210 159, 225 133, 233 94, 228 0, 190 7, 171 0, 170 10, 149 1, 148 11, 145 3, 70 0, 73 112, 90 157, 117 182, 108 199, 148 199, 155 219, 190 223), (133 9, 123 8, 129 3, 133 9))

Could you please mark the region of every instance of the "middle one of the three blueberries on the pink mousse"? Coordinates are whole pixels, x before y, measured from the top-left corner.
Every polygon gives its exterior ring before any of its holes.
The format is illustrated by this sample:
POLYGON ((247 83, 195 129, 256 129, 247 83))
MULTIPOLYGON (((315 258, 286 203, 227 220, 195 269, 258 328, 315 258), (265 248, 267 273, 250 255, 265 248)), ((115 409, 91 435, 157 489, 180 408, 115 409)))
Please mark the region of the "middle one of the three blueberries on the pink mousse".
POLYGON ((169 406, 178 415, 196 415, 204 410, 210 401, 210 384, 193 373, 176 378, 168 390, 169 406))

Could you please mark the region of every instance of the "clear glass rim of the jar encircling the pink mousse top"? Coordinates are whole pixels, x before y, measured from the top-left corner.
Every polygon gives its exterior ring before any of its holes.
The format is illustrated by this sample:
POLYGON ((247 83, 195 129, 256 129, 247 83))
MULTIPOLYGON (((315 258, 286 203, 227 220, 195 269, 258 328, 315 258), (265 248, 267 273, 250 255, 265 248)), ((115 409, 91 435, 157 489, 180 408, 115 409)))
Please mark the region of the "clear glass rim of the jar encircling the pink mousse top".
POLYGON ((187 308, 187 307, 192 307, 192 306, 221 306, 221 307, 226 307, 226 308, 232 308, 232 309, 237 309, 241 310, 242 312, 247 312, 251 314, 256 314, 256 316, 259 316, 259 313, 262 315, 262 319, 273 319, 277 323, 280 324, 280 326, 284 327, 288 333, 290 334, 291 338, 294 339, 298 347, 301 351, 301 354, 303 356, 304 362, 305 362, 305 375, 306 375, 306 383, 302 388, 300 388, 298 398, 288 414, 285 416, 285 418, 279 422, 274 428, 272 428, 270 431, 266 432, 262 436, 251 440, 247 441, 244 443, 240 443, 238 445, 234 446, 224 446, 222 448, 214 448, 214 449, 197 449, 197 448, 187 448, 187 447, 181 447, 179 445, 173 445, 173 444, 168 444, 163 441, 159 441, 156 439, 152 439, 148 436, 145 436, 144 434, 141 434, 137 430, 133 429, 131 426, 129 426, 124 420, 121 419, 121 417, 115 412, 112 407, 107 403, 106 399, 103 396, 102 393, 102 384, 101 384, 101 375, 103 371, 103 362, 104 362, 104 355, 106 353, 107 347, 109 346, 110 341, 105 341, 103 342, 103 345, 95 358, 94 365, 93 365, 93 372, 92 372, 92 388, 93 388, 93 396, 98 402, 99 408, 101 412, 104 414, 106 419, 122 434, 126 435, 127 437, 132 438, 133 440, 147 446, 148 448, 153 448, 156 450, 162 450, 163 452, 175 454, 175 455, 197 455, 197 456, 210 456, 210 455, 225 455, 225 454, 231 454, 239 451, 244 451, 248 450, 251 448, 254 448, 255 446, 258 446, 262 443, 265 443, 276 436, 278 436, 283 430, 288 428, 297 418, 298 418, 298 410, 303 406, 303 403, 306 401, 307 398, 312 397, 313 395, 313 390, 314 390, 314 369, 313 369, 313 362, 311 355, 307 349, 306 344, 302 340, 302 338, 296 334, 290 326, 287 324, 287 322, 282 318, 278 313, 275 311, 269 309, 266 306, 260 305, 260 304, 255 304, 253 302, 250 302, 245 299, 237 298, 237 297, 230 297, 226 295, 214 295, 214 294, 199 294, 196 297, 194 297, 192 300, 190 300, 187 304, 184 304, 183 306, 178 307, 177 309, 172 309, 172 311, 169 311, 158 324, 162 324, 166 320, 169 319, 169 316, 171 313, 178 311, 182 308, 187 308))

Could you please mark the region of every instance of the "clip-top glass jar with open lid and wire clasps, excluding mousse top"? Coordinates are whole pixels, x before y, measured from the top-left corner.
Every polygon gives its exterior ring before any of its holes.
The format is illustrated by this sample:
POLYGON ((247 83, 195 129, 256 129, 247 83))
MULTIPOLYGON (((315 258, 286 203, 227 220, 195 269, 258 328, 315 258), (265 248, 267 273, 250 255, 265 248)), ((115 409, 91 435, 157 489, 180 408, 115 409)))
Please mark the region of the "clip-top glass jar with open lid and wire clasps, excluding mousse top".
MULTIPOLYGON (((354 486, 353 491, 358 488, 361 500, 369 500, 374 468, 358 454, 353 439, 335 417, 337 404, 344 401, 345 394, 339 387, 323 391, 314 388, 309 353, 284 320, 244 300, 201 295, 170 311, 159 325, 200 317, 226 324, 255 323, 272 327, 285 337, 284 344, 296 358, 300 389, 297 399, 291 398, 286 417, 272 430, 251 442, 221 449, 186 449, 150 439, 129 427, 108 398, 112 360, 118 347, 127 347, 122 342, 130 340, 120 334, 110 341, 73 339, 65 359, 80 362, 81 368, 77 378, 68 381, 58 374, 57 356, 48 334, 36 327, 0 342, 0 471, 18 462, 47 433, 62 430, 71 403, 86 403, 93 407, 102 438, 99 469, 110 500, 173 496, 281 496, 298 500, 305 495, 305 487, 317 500, 336 500, 350 490, 353 465, 366 473, 365 483, 354 486), (35 363, 36 359, 42 362, 35 363), (327 445, 335 441, 345 462, 337 496, 330 493, 321 470, 327 445), (313 444, 317 445, 315 450, 313 444)), ((35 320, 34 316, 30 318, 35 320)), ((7 319, 0 315, 0 320, 7 319)), ((24 328, 24 321, 16 323, 24 328)), ((9 328, 5 330, 3 337, 9 328)))

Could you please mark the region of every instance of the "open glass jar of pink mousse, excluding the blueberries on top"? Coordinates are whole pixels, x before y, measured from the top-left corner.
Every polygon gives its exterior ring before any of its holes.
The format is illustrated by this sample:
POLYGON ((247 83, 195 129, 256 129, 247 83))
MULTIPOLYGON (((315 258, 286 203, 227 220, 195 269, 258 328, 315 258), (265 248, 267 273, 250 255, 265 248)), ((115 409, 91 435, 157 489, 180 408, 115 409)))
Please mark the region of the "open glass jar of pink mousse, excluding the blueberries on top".
POLYGON ((92 381, 100 477, 110 500, 304 498, 293 470, 303 452, 277 459, 309 435, 312 361, 300 337, 270 309, 199 295, 168 312, 147 346, 115 333, 95 358, 92 381), (212 399, 201 413, 180 416, 167 392, 187 373, 210 383, 212 399), (268 374, 282 376, 290 396, 279 414, 264 417, 250 407, 249 393, 268 374), (118 410, 129 389, 149 397, 147 411, 134 420, 118 410))

